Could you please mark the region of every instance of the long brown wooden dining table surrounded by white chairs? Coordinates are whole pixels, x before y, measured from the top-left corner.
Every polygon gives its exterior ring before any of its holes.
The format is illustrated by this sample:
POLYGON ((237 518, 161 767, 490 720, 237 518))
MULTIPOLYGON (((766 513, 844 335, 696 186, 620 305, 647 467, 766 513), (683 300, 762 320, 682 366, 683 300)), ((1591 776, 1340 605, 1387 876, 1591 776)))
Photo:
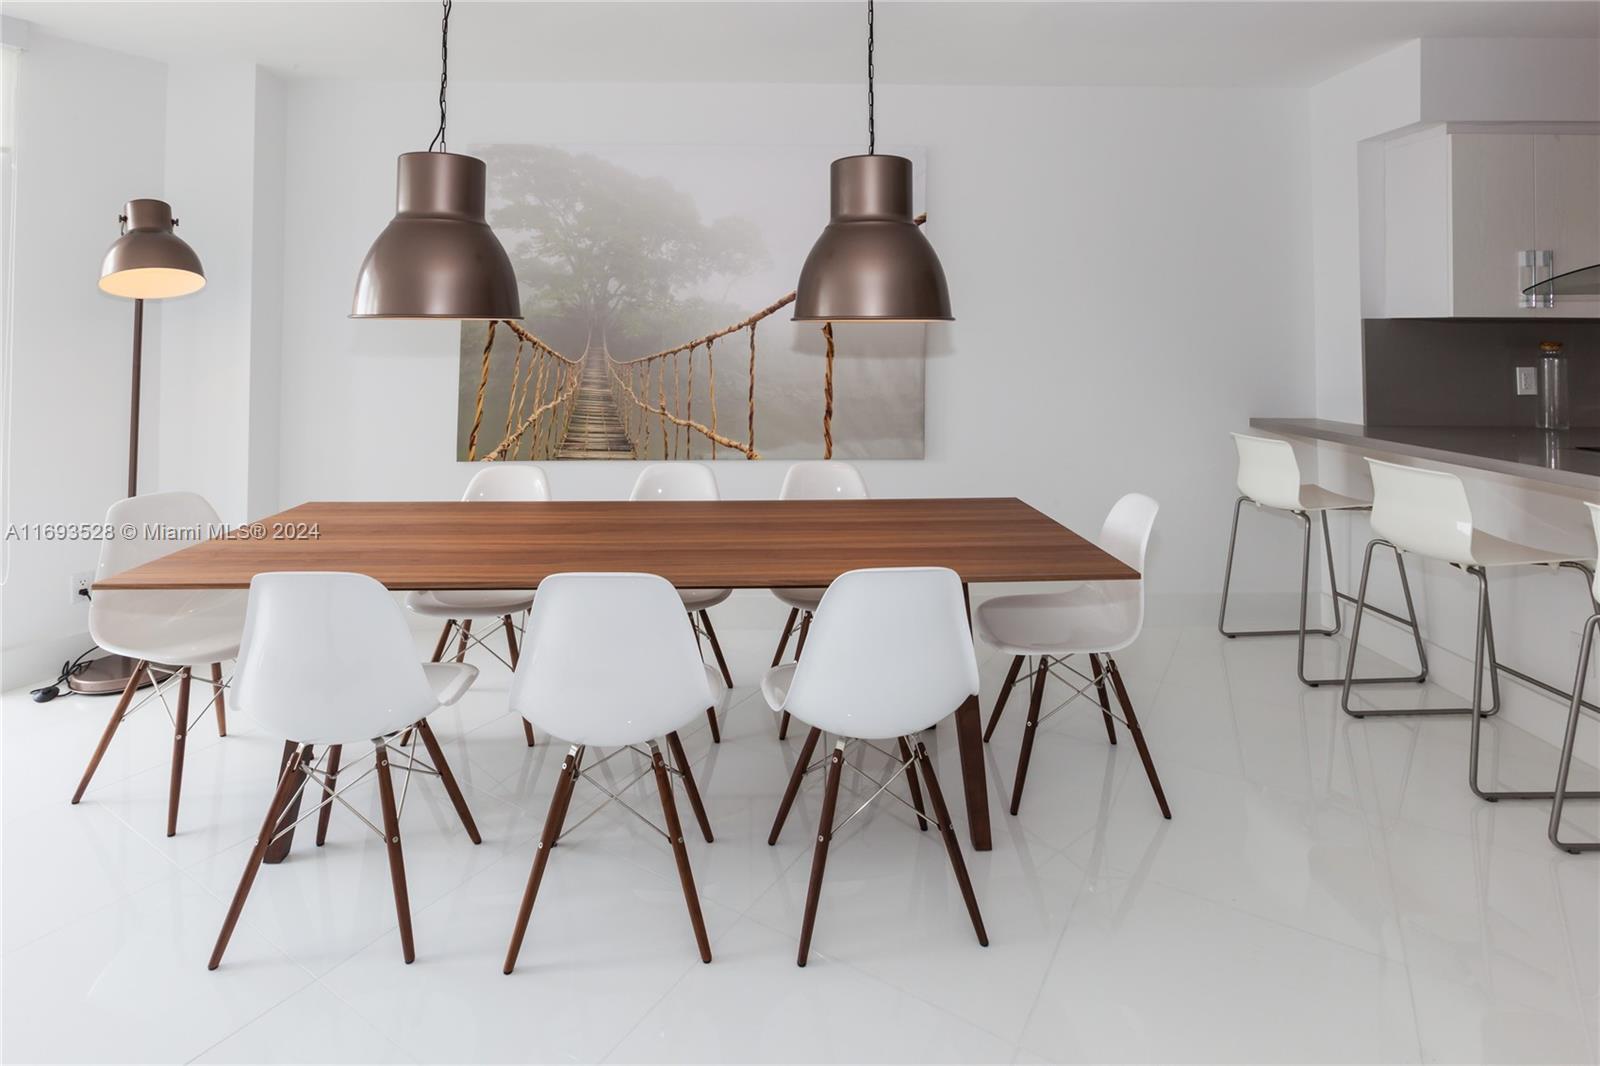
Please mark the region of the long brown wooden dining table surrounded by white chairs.
MULTIPOLYGON (((963 589, 1139 576, 1014 498, 306 503, 94 589, 246 589, 275 570, 352 570, 394 591, 533 589, 563 571, 656 573, 680 589, 773 589, 826 586, 862 567, 949 567, 963 589)), ((986 852, 978 695, 954 715, 968 829, 986 852)))

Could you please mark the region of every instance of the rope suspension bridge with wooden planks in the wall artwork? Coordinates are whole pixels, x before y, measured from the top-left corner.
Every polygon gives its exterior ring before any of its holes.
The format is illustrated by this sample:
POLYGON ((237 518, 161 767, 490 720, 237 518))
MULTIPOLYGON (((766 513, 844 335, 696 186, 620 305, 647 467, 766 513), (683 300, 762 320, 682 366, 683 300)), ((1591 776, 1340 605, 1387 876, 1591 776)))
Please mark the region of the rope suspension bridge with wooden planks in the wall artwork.
MULTIPOLYGON (((917 224, 926 214, 917 216, 917 224)), ((616 360, 594 339, 578 359, 562 355, 515 322, 490 322, 478 371, 477 405, 467 437, 469 461, 496 459, 715 459, 718 451, 762 458, 755 448, 757 327, 795 299, 781 296, 731 325, 653 355, 616 360), (480 447, 486 419, 496 330, 517 338, 504 432, 480 447), (728 338, 736 338, 730 341, 728 338), (744 395, 733 403, 742 418, 723 419, 728 397, 717 400, 717 355, 739 360, 744 395), (696 384, 698 383, 698 384, 696 384), (696 395, 699 391, 699 395, 696 395), (701 418, 694 418, 696 400, 701 418), (738 403, 742 400, 742 403, 738 403)), ((834 323, 822 325, 822 458, 834 458, 834 323)), ((498 423, 498 419, 496 419, 498 423)), ((493 429, 490 431, 493 432, 493 429)))

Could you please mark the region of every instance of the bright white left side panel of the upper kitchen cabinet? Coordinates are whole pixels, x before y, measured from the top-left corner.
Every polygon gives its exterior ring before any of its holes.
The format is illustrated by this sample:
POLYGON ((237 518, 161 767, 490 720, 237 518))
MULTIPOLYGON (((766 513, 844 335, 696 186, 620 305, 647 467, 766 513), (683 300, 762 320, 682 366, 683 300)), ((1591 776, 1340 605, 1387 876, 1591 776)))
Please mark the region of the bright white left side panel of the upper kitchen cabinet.
POLYGON ((1440 126, 1384 152, 1384 312, 1442 319, 1450 307, 1450 138, 1440 126))

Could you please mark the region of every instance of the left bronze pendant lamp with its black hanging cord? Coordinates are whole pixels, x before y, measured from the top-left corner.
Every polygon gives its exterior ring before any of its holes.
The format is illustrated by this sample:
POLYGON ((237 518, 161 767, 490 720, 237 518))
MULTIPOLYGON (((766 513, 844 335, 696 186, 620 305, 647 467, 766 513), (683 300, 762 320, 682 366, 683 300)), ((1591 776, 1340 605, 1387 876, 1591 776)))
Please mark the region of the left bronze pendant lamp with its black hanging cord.
POLYGON ((450 6, 443 0, 438 131, 426 152, 400 155, 395 216, 362 261, 352 319, 522 319, 517 274, 483 218, 488 168, 445 147, 450 6))

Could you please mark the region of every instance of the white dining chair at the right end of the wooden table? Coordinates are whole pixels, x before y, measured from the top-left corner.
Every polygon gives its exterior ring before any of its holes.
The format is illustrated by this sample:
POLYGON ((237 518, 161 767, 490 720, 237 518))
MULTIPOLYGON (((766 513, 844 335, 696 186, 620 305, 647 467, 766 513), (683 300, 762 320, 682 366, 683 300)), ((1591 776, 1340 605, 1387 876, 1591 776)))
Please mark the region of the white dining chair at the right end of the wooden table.
POLYGON ((1101 527, 1099 546, 1138 570, 1136 581, 1083 581, 1058 592, 1000 595, 978 605, 973 616, 978 635, 1013 656, 1005 685, 995 699, 995 709, 989 715, 989 727, 984 730, 986 741, 994 736, 995 727, 1000 723, 1000 712, 1005 711, 1006 698, 1011 695, 1011 687, 1016 685, 1024 659, 1034 659, 1027 725, 1022 730, 1022 751, 1016 759, 1016 779, 1011 783, 1013 815, 1022 807, 1022 786, 1027 781, 1027 763, 1034 754, 1034 738, 1038 735, 1038 727, 1064 711, 1074 699, 1086 696, 1090 687, 1099 696, 1106 738, 1112 744, 1117 743, 1115 722, 1118 717, 1110 709, 1110 698, 1106 693, 1106 683, 1110 682, 1122 707, 1120 722, 1133 735, 1133 744, 1139 749, 1139 760, 1144 762, 1144 775, 1150 779, 1162 818, 1173 816, 1166 805, 1166 792, 1162 791, 1162 779, 1155 773, 1155 760, 1150 759, 1150 746, 1144 739, 1139 715, 1134 714, 1133 699, 1128 698, 1128 685, 1122 680, 1122 671, 1117 669, 1114 658, 1117 651, 1138 640, 1144 631, 1146 559, 1157 511, 1160 506, 1149 496, 1128 493, 1112 504, 1101 527), (1088 658, 1088 672, 1070 663, 1075 655, 1088 658), (1053 711, 1040 714, 1050 677, 1066 682, 1072 691, 1053 711))

